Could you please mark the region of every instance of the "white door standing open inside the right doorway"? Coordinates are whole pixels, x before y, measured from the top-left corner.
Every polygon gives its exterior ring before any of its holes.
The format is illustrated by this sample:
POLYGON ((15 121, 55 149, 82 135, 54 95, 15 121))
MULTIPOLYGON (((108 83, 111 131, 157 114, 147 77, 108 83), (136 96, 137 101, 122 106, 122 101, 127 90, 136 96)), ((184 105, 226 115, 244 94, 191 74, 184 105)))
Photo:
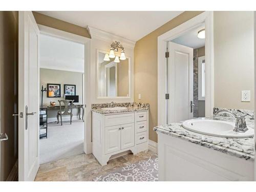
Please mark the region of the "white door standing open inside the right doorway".
POLYGON ((174 42, 168 48, 167 118, 172 123, 193 118, 193 49, 174 42))

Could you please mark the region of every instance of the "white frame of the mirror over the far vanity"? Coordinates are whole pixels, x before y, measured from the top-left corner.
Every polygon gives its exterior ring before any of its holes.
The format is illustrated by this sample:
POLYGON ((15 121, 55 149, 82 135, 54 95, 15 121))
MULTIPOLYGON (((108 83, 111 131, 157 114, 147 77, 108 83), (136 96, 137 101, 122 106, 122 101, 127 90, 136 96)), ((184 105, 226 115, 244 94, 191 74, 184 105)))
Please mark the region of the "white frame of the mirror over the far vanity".
MULTIPOLYGON (((97 54, 96 54, 96 62, 97 62, 97 65, 96 65, 96 71, 97 71, 97 79, 96 79, 96 96, 97 96, 97 99, 130 99, 131 98, 131 57, 130 56, 127 56, 125 55, 126 59, 129 60, 129 70, 128 70, 128 76, 129 76, 129 96, 116 96, 116 97, 113 97, 113 96, 104 96, 104 97, 99 97, 98 95, 98 81, 99 81, 99 53, 103 53, 103 54, 106 54, 109 52, 108 51, 103 51, 103 50, 99 50, 97 49, 97 54)), ((120 57, 120 54, 116 54, 116 56, 119 56, 120 57)))

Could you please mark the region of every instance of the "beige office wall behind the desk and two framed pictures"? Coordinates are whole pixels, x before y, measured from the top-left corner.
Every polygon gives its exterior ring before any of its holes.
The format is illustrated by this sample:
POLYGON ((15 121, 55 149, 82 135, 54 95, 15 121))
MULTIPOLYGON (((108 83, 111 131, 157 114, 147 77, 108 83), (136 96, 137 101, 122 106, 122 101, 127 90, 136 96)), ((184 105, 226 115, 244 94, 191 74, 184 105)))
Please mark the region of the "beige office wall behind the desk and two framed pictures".
MULTIPOLYGON (((58 104, 58 100, 64 99, 64 84, 75 84, 76 95, 79 95, 79 103, 82 102, 82 74, 71 71, 60 71, 52 69, 40 69, 40 88, 44 86, 47 88, 47 83, 60 84, 61 97, 47 97, 47 92, 43 93, 42 103, 43 105, 49 105, 50 101, 55 101, 58 104)), ((40 94, 40 105, 41 105, 41 94, 40 94)), ((56 117, 57 111, 52 110, 48 112, 48 118, 56 117)), ((73 115, 78 115, 78 111, 75 109, 73 115)))

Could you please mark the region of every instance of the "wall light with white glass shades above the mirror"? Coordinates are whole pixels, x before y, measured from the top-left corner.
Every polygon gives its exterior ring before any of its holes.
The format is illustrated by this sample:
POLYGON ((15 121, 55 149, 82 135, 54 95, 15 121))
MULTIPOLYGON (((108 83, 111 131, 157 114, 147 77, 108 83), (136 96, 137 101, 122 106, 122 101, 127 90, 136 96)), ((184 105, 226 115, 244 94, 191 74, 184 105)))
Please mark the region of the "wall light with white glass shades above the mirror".
POLYGON ((120 60, 125 60, 124 47, 120 44, 120 42, 115 41, 111 44, 110 53, 105 54, 104 61, 109 61, 110 58, 115 58, 114 62, 120 62, 119 57, 115 55, 115 52, 118 52, 118 48, 121 49, 120 60))

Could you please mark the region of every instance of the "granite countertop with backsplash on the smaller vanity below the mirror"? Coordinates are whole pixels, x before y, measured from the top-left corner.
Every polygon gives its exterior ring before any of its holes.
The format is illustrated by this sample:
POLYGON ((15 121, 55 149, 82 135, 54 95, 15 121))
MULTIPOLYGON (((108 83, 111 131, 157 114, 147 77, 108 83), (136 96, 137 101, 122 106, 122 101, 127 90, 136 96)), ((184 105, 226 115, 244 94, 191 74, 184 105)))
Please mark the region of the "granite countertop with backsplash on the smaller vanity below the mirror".
POLYGON ((102 108, 108 108, 109 103, 100 103, 100 104, 92 104, 92 111, 96 113, 100 113, 103 115, 108 114, 119 114, 119 113, 129 113, 136 111, 147 111, 150 110, 150 105, 148 103, 115 103, 115 107, 126 107, 125 110, 102 110, 102 108))

